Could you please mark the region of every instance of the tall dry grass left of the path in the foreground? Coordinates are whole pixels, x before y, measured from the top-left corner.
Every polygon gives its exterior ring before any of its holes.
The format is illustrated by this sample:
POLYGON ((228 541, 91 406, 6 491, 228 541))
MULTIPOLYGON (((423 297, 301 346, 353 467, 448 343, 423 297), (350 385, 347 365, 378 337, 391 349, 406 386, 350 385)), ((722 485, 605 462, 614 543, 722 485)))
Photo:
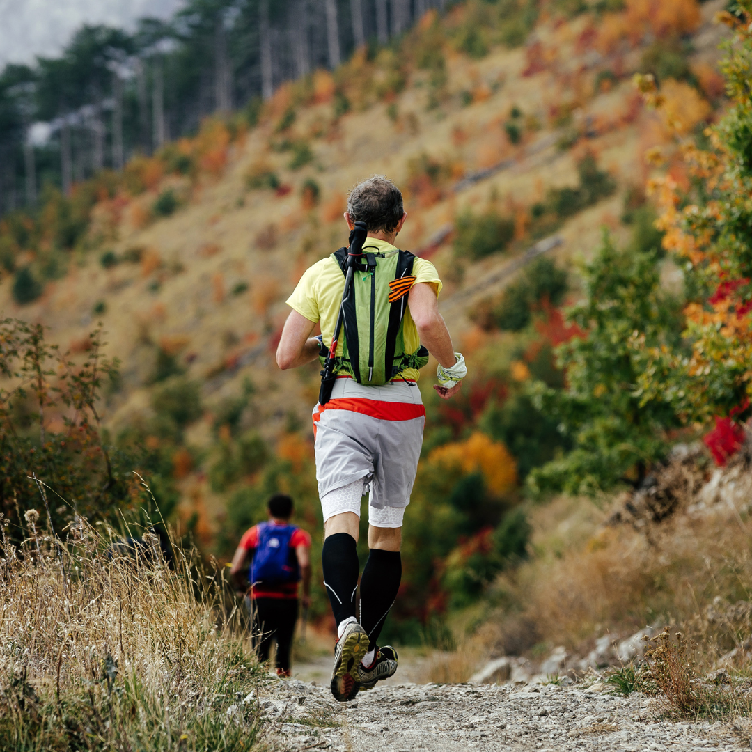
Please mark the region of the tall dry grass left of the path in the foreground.
POLYGON ((195 552, 166 565, 159 538, 119 547, 79 520, 65 538, 5 542, 0 557, 0 748, 251 750, 255 705, 226 713, 261 681, 238 614, 195 552))

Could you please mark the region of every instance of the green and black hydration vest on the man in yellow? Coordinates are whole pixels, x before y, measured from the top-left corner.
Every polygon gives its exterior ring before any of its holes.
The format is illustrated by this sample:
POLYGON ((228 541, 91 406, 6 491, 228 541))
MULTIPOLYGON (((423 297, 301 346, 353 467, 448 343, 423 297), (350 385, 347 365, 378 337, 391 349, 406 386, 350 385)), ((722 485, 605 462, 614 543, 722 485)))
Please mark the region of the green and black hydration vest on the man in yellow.
MULTIPOLYGON (((380 387, 388 384, 405 368, 423 368, 428 350, 419 347, 405 353, 402 326, 408 307, 408 293, 415 277, 415 256, 407 250, 381 253, 375 246, 363 246, 365 263, 353 274, 353 294, 344 302, 344 341, 341 356, 335 358, 335 370, 350 375, 358 384, 380 387)), ((347 248, 332 253, 347 277, 347 248)), ((321 365, 329 351, 320 353, 321 365)))

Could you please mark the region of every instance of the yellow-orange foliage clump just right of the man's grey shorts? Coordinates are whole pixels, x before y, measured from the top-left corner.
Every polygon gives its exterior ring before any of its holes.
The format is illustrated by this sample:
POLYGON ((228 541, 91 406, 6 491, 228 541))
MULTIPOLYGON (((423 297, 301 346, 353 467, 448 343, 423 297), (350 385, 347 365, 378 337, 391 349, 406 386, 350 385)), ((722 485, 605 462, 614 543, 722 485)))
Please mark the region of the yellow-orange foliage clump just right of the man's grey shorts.
POLYGON ((501 441, 476 432, 465 441, 437 447, 429 454, 431 464, 458 468, 465 475, 481 472, 487 487, 497 496, 517 484, 517 463, 501 441))

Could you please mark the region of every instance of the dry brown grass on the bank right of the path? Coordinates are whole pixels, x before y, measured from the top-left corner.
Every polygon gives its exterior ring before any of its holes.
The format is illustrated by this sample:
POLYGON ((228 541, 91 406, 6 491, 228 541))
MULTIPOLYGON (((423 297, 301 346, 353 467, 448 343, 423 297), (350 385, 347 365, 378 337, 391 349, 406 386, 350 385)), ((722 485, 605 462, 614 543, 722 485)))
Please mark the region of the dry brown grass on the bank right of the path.
MULTIPOLYGON (((554 519, 556 503, 545 510, 554 519)), ((568 509, 581 529, 547 523, 541 510, 538 555, 499 583, 508 605, 485 635, 497 649, 550 642, 578 650, 607 631, 617 637, 656 621, 685 625, 709 663, 741 646, 749 611, 731 605, 750 600, 752 535, 735 509, 718 505, 639 532, 599 528, 604 514, 593 509, 588 520, 568 509)))

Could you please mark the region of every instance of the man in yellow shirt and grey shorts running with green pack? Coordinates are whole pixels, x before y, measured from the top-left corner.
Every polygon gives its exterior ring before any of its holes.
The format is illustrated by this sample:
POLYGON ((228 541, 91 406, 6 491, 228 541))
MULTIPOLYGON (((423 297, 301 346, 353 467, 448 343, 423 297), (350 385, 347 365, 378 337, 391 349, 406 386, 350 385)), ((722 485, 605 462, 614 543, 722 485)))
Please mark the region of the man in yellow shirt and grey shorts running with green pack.
POLYGON ((293 311, 277 347, 280 368, 296 368, 328 355, 323 343, 332 335, 338 340, 338 378, 328 401, 315 406, 313 419, 323 577, 338 632, 332 694, 340 702, 397 669, 396 650, 378 647, 377 641, 402 578, 402 517, 423 443, 426 411, 418 368, 428 353, 438 360, 434 389, 443 399, 459 391, 466 373, 438 312, 441 280, 434 265, 394 245, 407 217, 402 193, 386 177, 374 175, 353 188, 344 219, 351 243, 367 230, 362 253, 353 252, 356 244, 350 251, 342 248, 303 274, 287 300, 293 311), (356 230, 356 222, 365 227, 356 230), (353 294, 343 302, 348 253, 362 262, 353 275, 353 294), (334 332, 341 305, 344 327, 334 332), (317 323, 321 335, 312 337, 317 323), (366 491, 370 553, 358 617, 356 544, 366 491))

